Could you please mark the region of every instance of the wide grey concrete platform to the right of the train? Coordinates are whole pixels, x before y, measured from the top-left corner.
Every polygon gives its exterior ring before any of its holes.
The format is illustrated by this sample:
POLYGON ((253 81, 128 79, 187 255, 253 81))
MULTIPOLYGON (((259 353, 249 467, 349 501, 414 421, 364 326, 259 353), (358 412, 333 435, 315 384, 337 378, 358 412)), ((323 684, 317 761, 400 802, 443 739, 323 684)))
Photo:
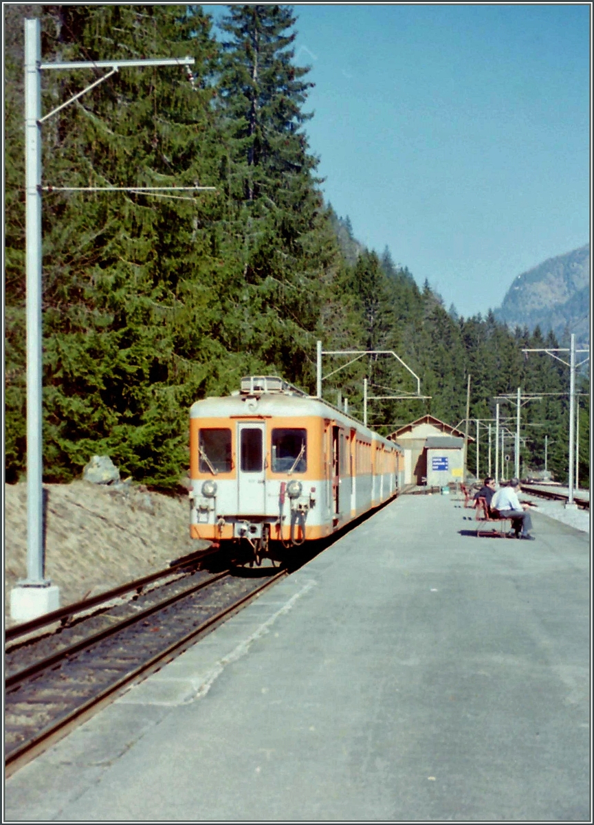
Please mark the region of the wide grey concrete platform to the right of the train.
POLYGON ((588 535, 404 496, 6 782, 5 822, 589 822, 588 535))

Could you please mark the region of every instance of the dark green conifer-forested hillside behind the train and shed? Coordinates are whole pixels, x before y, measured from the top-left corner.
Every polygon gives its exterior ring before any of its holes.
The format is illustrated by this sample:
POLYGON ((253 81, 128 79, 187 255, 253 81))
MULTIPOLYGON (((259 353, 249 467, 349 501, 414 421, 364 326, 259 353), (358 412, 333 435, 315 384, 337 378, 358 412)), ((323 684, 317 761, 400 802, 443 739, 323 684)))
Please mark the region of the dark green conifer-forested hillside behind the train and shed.
MULTIPOLYGON (((46 480, 73 479, 91 455, 108 453, 122 474, 174 488, 188 464, 191 403, 253 373, 314 392, 318 338, 324 349, 393 350, 420 376, 431 398, 370 403, 370 423, 384 433, 426 412, 460 422, 469 374, 472 418, 493 418, 493 397, 518 386, 568 388, 559 361, 522 356, 544 346, 538 328, 510 332, 493 314, 452 318, 387 248, 365 249, 324 203, 290 7, 229 7, 218 42, 197 6, 5 6, 8 481, 26 467, 22 20, 32 15, 45 61, 196 60, 190 74, 122 69, 47 121, 45 185, 215 187, 175 197, 45 194, 46 480)), ((100 76, 43 73, 44 111, 100 76)), ((552 335, 546 344, 556 346, 552 335)), ((328 359, 324 372, 340 363, 328 359)), ((340 391, 362 417, 365 376, 371 394, 416 389, 394 358, 370 356, 325 381, 324 397, 336 403, 340 391)), ((522 420, 534 425, 526 467, 543 466, 546 434, 549 469, 563 479, 567 397, 529 403, 522 420)))

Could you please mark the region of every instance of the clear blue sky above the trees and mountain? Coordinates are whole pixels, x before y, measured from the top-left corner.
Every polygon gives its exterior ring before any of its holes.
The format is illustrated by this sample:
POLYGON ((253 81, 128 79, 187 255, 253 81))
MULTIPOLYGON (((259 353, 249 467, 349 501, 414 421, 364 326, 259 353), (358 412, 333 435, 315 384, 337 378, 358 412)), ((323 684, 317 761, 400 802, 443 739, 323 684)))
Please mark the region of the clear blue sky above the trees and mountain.
POLYGON ((464 316, 587 243, 589 5, 292 5, 310 149, 358 240, 464 316))

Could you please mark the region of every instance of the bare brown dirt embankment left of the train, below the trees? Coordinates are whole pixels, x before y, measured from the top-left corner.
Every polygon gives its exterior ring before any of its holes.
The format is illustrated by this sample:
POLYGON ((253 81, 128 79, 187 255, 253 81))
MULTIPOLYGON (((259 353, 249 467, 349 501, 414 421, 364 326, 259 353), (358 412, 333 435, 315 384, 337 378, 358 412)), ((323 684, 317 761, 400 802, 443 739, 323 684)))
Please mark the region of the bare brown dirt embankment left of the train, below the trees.
MULTIPOLYGON (((26 483, 5 485, 4 610, 26 578, 26 483)), ((189 505, 182 497, 149 493, 138 484, 87 481, 44 484, 45 577, 68 605, 167 567, 207 546, 189 536, 189 505)))

